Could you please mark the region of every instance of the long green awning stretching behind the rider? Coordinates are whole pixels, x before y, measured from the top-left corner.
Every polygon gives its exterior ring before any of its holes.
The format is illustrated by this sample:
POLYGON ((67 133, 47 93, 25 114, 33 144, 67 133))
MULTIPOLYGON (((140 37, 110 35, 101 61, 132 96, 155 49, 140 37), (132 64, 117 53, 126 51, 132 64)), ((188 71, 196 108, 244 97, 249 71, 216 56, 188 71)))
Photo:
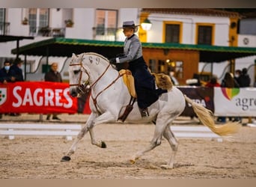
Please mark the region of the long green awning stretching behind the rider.
MULTIPOLYGON (((107 58, 112 58, 115 57, 115 55, 122 53, 123 47, 124 42, 118 41, 54 37, 19 47, 19 55, 70 57, 72 53, 80 54, 82 52, 97 52, 107 58)), ((180 43, 142 43, 142 47, 150 49, 199 51, 201 62, 221 62, 256 55, 256 48, 252 47, 207 46, 180 43)), ((16 49, 11 50, 12 54, 16 54, 16 52, 16 49)))

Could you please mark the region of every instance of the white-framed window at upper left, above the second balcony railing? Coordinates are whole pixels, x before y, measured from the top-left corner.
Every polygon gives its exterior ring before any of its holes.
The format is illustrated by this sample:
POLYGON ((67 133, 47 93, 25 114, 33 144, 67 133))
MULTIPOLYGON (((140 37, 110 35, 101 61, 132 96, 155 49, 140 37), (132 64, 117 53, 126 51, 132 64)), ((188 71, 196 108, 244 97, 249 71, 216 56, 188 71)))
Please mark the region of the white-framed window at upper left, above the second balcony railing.
POLYGON ((40 28, 49 27, 48 8, 29 8, 28 10, 29 32, 36 34, 40 28))

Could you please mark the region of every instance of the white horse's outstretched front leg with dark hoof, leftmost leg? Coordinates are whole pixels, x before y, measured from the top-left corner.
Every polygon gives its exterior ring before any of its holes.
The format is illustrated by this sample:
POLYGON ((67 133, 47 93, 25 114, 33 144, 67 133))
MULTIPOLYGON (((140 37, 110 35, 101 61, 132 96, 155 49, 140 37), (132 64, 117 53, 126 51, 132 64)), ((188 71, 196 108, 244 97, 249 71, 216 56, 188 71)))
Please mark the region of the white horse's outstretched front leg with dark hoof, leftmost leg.
POLYGON ((91 114, 89 116, 88 121, 85 123, 85 126, 83 126, 79 134, 76 136, 75 141, 73 142, 73 144, 71 145, 70 149, 67 151, 65 156, 62 157, 61 162, 70 161, 70 156, 73 155, 73 153, 75 153, 76 146, 79 143, 79 141, 85 136, 85 134, 88 131, 90 131, 90 135, 91 133, 93 133, 92 128, 94 126, 94 118, 95 118, 95 114, 91 114))

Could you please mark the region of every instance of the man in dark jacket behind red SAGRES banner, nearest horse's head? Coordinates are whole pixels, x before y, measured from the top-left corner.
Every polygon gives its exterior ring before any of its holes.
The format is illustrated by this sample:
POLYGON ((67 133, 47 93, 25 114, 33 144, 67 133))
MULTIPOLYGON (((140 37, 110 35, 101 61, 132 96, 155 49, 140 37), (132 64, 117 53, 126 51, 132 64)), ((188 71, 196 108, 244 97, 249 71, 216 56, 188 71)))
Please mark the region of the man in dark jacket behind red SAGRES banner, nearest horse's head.
MULTIPOLYGON (((56 62, 53 62, 51 64, 51 69, 48 73, 44 76, 44 80, 46 82, 62 82, 61 73, 58 72, 58 64, 56 62)), ((47 114, 46 120, 49 120, 51 117, 51 114, 47 114)), ((52 120, 61 120, 58 118, 57 114, 52 114, 52 120)))

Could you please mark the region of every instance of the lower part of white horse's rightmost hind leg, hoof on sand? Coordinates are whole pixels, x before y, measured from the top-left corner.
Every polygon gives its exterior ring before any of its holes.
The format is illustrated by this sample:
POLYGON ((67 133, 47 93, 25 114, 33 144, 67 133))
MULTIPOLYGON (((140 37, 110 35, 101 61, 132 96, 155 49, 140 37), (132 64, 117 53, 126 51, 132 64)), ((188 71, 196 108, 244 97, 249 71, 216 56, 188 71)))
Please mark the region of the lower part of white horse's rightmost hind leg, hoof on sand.
POLYGON ((169 169, 174 168, 174 159, 177 153, 178 141, 175 138, 174 133, 171 132, 170 125, 166 126, 165 131, 163 132, 163 136, 168 140, 169 144, 171 145, 172 153, 171 158, 167 165, 161 165, 161 168, 169 169))

